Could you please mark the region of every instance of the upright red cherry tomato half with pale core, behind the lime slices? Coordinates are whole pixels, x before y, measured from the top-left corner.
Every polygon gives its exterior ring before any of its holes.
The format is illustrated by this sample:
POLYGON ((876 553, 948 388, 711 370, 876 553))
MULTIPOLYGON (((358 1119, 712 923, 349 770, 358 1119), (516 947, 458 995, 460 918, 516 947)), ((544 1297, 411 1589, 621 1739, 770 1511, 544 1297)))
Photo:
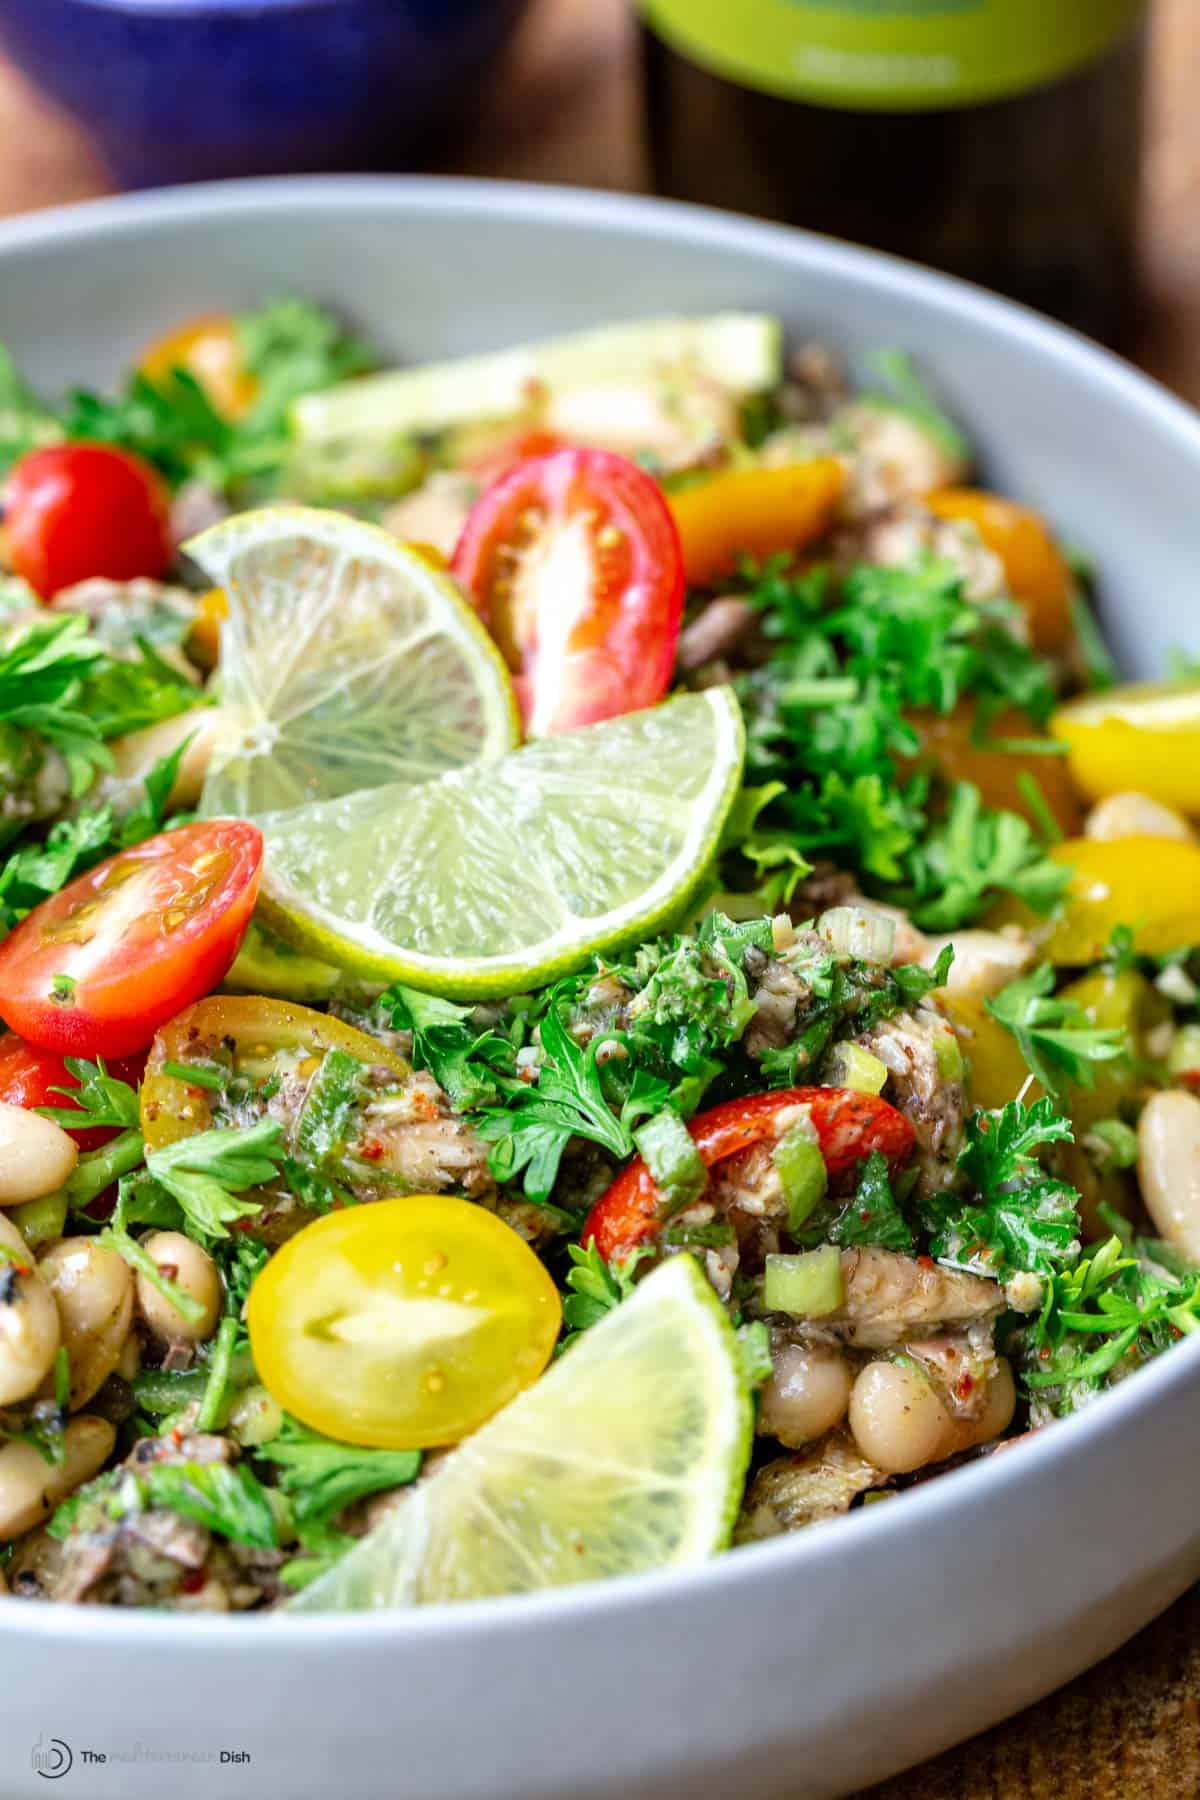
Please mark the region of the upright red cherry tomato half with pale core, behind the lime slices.
POLYGON ((666 693, 684 556, 662 491, 626 457, 520 463, 471 508, 452 569, 504 652, 531 738, 666 693))

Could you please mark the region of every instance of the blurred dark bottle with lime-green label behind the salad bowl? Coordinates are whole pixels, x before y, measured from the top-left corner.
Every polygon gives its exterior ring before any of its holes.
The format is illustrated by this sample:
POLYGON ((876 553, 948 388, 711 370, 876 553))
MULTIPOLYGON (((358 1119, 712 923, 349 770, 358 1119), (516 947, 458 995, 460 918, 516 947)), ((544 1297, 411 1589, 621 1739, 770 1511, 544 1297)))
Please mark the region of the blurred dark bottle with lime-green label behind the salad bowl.
POLYGON ((1121 340, 1146 0, 639 0, 655 185, 1121 340))

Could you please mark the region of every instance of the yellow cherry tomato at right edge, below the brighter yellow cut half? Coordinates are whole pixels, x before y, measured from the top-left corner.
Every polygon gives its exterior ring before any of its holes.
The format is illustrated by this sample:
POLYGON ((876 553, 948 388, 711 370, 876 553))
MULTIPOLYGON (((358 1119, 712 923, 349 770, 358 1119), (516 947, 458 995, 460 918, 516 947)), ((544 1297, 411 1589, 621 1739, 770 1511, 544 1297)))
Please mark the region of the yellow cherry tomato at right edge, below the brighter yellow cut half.
POLYGON ((1002 900, 990 923, 1024 925, 1051 963, 1099 961, 1114 925, 1130 927, 1133 949, 1142 956, 1200 943, 1198 844, 1171 837, 1072 837, 1049 855, 1072 871, 1056 911, 1040 918, 1018 900, 1002 900))

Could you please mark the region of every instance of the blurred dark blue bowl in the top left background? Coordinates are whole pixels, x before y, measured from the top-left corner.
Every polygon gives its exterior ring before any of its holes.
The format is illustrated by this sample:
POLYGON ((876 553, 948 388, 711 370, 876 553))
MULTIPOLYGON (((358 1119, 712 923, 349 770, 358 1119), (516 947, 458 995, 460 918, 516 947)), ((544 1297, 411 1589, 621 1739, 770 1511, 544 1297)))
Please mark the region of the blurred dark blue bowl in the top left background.
POLYGON ((470 117, 525 0, 0 0, 122 187, 392 169, 470 117))

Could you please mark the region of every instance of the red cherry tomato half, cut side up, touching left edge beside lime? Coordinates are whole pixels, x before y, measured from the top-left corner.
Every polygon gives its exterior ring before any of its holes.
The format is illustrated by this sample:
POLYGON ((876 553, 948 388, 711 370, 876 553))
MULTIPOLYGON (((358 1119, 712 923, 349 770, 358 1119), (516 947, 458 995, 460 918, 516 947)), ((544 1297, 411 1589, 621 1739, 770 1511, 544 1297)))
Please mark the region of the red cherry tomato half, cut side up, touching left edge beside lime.
POLYGON ((261 866, 255 826, 212 819, 88 869, 0 945, 0 1019, 41 1049, 144 1049, 234 961, 261 866))

